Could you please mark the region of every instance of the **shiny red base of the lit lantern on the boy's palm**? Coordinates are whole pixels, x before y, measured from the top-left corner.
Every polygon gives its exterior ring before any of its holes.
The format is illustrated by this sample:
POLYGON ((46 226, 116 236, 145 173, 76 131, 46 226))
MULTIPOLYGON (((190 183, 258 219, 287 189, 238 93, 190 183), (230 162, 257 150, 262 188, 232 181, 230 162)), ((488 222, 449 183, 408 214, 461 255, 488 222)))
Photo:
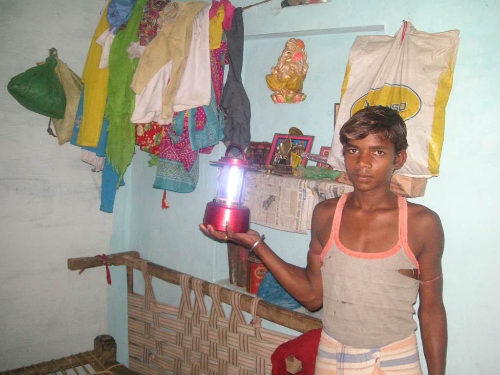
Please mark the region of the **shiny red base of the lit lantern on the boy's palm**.
POLYGON ((250 209, 240 205, 227 205, 211 201, 206 203, 203 225, 210 224, 215 230, 225 232, 229 221, 235 233, 246 233, 250 228, 250 209))

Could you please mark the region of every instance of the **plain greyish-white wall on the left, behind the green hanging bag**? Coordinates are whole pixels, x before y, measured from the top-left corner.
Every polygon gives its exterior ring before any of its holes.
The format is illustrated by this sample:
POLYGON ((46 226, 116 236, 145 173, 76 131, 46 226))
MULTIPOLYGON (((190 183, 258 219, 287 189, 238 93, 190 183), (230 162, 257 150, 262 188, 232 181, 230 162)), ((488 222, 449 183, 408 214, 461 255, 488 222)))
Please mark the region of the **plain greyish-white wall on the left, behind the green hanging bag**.
POLYGON ((81 75, 103 4, 0 0, 0 370, 88 350, 107 333, 104 268, 78 276, 66 266, 109 251, 100 173, 6 89, 50 47, 81 75))

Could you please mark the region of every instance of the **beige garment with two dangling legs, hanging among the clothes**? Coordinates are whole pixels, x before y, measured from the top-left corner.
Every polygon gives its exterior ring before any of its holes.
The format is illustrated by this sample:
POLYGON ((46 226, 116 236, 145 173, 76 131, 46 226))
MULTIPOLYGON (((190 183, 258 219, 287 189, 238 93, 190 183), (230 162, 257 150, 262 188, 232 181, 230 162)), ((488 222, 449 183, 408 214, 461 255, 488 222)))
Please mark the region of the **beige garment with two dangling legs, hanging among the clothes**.
POLYGON ((169 2, 159 12, 159 16, 164 20, 161 32, 144 49, 132 78, 130 87, 135 93, 141 93, 154 74, 168 61, 172 61, 170 81, 163 91, 161 108, 161 118, 167 123, 172 119, 173 100, 184 70, 194 17, 204 5, 209 3, 169 2))

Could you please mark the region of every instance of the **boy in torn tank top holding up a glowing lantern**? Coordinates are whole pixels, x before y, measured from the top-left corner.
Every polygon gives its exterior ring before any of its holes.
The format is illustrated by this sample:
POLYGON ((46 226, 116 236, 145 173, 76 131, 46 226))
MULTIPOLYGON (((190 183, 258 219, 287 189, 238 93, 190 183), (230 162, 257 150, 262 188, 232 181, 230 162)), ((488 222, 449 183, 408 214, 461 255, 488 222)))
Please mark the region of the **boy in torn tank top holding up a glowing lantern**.
POLYGON ((200 227, 253 247, 293 297, 310 310, 323 307, 315 374, 421 374, 412 317, 418 294, 428 373, 442 375, 442 226, 435 212, 389 190, 406 161, 404 121, 390 108, 364 108, 342 126, 340 142, 354 191, 314 208, 305 269, 284 262, 254 230, 200 227))

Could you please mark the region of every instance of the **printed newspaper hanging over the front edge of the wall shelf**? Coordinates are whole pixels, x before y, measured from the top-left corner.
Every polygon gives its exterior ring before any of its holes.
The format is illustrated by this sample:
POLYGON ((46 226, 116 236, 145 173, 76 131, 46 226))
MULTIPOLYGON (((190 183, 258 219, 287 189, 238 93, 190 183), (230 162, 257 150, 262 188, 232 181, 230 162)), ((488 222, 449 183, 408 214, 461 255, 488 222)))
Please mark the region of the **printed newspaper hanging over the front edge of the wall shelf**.
POLYGON ((250 221, 275 229, 306 233, 314 206, 321 200, 352 191, 352 186, 331 180, 249 171, 245 176, 244 205, 250 221))

